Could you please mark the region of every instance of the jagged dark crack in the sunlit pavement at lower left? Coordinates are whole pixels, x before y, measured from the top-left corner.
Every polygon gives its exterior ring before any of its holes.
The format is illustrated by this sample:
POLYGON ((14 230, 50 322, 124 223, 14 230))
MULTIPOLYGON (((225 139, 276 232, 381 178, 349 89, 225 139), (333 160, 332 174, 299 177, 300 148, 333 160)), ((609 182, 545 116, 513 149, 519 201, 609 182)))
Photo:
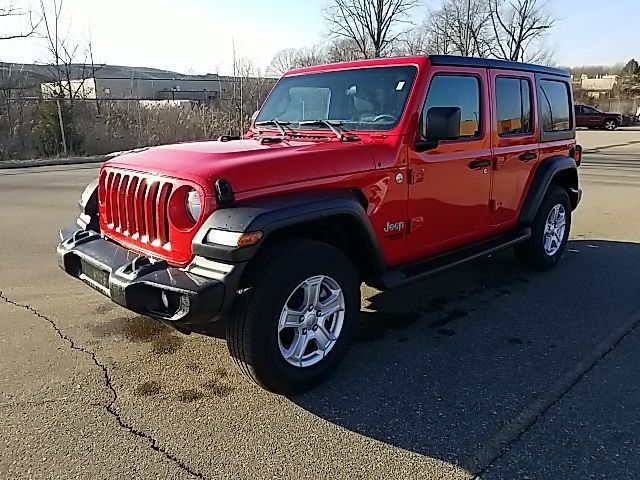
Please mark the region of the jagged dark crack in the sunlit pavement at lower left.
POLYGON ((77 351, 82 352, 85 355, 88 355, 89 357, 91 357, 91 359, 93 360, 93 363, 99 369, 102 370, 102 373, 104 375, 105 385, 107 386, 107 388, 111 392, 111 401, 107 405, 101 405, 101 406, 104 406, 106 411, 116 419, 116 421, 118 422, 120 427, 124 428, 129 433, 131 433, 131 434, 133 434, 133 435, 135 435, 135 436, 137 436, 137 437, 139 437, 141 439, 146 440, 149 443, 149 446, 151 447, 152 450, 162 454, 165 458, 167 458, 168 460, 171 460, 175 465, 177 465, 179 468, 181 468, 182 470, 186 471, 187 473, 189 473, 193 477, 201 478, 201 479, 206 479, 207 478, 204 474, 202 474, 200 472, 197 472, 192 467, 190 467, 189 465, 184 463, 182 460, 180 460, 178 457, 176 457, 173 453, 168 452, 167 450, 165 450, 162 446, 160 446, 158 441, 155 438, 153 438, 151 435, 149 435, 148 433, 145 433, 145 432, 143 432, 141 430, 138 430, 134 426, 129 425, 127 422, 125 422, 125 420, 122 418, 120 413, 118 413, 118 411, 115 408, 115 404, 116 404, 116 402, 118 400, 118 392, 116 391, 115 387, 113 386, 113 382, 111 380, 111 376, 109 375, 109 370, 107 369, 107 367, 105 365, 100 363, 100 361, 98 360, 98 358, 96 357, 96 354, 94 352, 91 352, 91 351, 87 350, 86 348, 84 348, 84 347, 82 347, 80 345, 77 345, 75 343, 75 341, 72 338, 68 337, 66 334, 64 334, 62 332, 62 330, 60 330, 58 325, 53 320, 51 320, 49 317, 47 317, 46 315, 41 314, 40 312, 38 312, 35 308, 31 307, 30 305, 22 304, 22 303, 15 302, 15 301, 9 299, 4 294, 4 292, 2 290, 0 290, 0 300, 3 300, 5 303, 8 303, 9 305, 13 305, 15 307, 22 308, 23 310, 27 310, 28 312, 31 312, 32 314, 34 314, 38 318, 41 318, 42 320, 45 320, 46 322, 48 322, 51 325, 51 327, 58 334, 58 336, 63 341, 65 341, 66 343, 69 344, 69 347, 72 350, 77 350, 77 351))

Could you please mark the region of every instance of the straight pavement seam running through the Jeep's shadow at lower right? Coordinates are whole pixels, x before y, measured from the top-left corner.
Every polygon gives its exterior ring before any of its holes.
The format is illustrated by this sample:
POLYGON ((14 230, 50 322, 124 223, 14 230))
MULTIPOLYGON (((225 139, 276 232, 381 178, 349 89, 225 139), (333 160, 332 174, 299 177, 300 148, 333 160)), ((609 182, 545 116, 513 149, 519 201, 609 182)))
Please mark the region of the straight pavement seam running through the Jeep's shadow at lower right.
POLYGON ((472 480, 480 480, 495 462, 504 457, 509 447, 519 441, 542 417, 569 391, 575 387, 588 373, 613 352, 620 343, 640 326, 640 312, 632 315, 630 320, 616 329, 605 340, 598 343, 591 355, 578 362, 571 370, 565 372, 547 390, 546 395, 537 397, 507 426, 494 435, 492 441, 480 449, 475 455, 478 465, 483 465, 474 474, 472 480))

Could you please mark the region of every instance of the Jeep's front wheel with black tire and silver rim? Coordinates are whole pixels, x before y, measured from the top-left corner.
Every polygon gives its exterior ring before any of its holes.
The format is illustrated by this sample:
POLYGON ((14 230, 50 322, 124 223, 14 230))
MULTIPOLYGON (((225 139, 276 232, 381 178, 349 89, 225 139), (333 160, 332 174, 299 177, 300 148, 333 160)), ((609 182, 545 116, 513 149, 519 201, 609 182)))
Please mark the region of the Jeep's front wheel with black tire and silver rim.
POLYGON ((360 281, 337 248, 289 240, 255 259, 227 327, 231 356, 275 393, 307 390, 337 366, 360 311, 360 281))

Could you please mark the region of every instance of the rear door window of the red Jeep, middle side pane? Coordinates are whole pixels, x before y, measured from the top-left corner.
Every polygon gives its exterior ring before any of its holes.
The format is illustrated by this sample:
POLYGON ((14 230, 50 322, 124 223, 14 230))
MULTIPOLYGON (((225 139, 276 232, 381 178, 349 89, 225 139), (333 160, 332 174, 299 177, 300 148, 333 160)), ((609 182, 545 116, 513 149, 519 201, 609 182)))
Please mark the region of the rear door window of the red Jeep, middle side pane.
POLYGON ((496 78, 498 134, 531 133, 531 87, 526 78, 496 78))

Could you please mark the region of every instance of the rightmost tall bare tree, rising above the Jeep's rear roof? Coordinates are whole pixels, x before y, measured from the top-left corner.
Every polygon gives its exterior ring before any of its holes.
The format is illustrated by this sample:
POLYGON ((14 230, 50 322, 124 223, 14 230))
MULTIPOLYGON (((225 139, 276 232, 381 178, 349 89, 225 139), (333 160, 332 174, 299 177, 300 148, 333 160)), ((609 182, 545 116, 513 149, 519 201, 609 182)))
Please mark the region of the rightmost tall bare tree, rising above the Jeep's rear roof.
POLYGON ((547 0, 488 0, 495 51, 498 58, 542 62, 550 51, 541 41, 557 19, 548 12, 547 0))

